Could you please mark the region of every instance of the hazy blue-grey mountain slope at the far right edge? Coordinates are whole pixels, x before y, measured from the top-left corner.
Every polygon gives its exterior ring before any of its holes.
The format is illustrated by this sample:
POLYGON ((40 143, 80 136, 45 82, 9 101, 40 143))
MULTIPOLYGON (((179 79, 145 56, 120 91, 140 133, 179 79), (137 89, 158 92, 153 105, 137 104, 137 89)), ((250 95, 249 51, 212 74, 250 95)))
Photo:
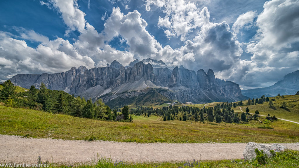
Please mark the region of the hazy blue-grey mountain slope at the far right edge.
POLYGON ((292 95, 299 91, 299 70, 287 74, 283 80, 278 81, 272 86, 266 88, 256 88, 242 90, 242 94, 251 98, 261 97, 265 95, 266 97, 280 95, 292 95))

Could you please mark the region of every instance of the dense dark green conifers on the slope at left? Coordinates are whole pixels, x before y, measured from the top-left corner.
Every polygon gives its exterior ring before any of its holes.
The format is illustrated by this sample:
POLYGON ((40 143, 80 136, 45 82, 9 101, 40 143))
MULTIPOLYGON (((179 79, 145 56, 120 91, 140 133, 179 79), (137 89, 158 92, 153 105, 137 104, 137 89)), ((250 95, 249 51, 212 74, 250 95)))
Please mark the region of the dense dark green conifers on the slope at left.
MULTIPOLYGON (((86 101, 84 97, 47 89, 44 83, 41 83, 39 89, 32 85, 25 92, 16 93, 15 89, 10 80, 1 85, 0 102, 3 105, 97 120, 116 120, 119 115, 116 109, 111 110, 101 99, 93 103, 91 99, 86 101)), ((123 120, 132 121, 127 115, 128 108, 123 109, 123 120)))

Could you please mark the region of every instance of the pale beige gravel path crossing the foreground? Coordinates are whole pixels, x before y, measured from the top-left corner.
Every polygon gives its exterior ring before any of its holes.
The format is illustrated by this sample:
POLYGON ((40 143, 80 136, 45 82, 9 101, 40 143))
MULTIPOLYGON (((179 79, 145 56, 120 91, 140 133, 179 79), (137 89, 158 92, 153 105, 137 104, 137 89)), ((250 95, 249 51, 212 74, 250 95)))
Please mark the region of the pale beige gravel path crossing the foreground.
MULTIPOLYGON (((0 163, 37 162, 48 159, 55 163, 82 163, 100 157, 132 162, 221 160, 243 157, 247 143, 123 143, 111 141, 84 141, 23 138, 0 135, 0 163), (95 157, 94 157, 95 156, 95 157)), ((299 143, 280 143, 299 150, 299 143)))

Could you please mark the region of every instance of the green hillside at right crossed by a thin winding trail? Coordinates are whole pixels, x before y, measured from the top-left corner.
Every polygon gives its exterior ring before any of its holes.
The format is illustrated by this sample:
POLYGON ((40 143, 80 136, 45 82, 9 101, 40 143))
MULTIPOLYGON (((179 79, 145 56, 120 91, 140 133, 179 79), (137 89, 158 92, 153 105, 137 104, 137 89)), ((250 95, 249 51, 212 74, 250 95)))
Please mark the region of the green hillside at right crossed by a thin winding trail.
MULTIPOLYGON (((288 95, 284 96, 276 96, 276 97, 269 97, 269 99, 275 99, 273 101, 273 106, 269 107, 269 102, 264 102, 263 104, 256 104, 251 106, 241 106, 242 111, 245 112, 245 109, 248 107, 250 110, 249 113, 254 113, 256 110, 260 112, 262 115, 271 116, 275 115, 278 118, 283 118, 286 120, 292 120, 295 122, 299 122, 299 95, 288 95), (280 108, 283 101, 286 102, 286 109, 280 108)), ((243 101, 243 104, 246 104, 247 101, 243 101)), ((234 108, 235 111, 239 111, 239 107, 234 108)))

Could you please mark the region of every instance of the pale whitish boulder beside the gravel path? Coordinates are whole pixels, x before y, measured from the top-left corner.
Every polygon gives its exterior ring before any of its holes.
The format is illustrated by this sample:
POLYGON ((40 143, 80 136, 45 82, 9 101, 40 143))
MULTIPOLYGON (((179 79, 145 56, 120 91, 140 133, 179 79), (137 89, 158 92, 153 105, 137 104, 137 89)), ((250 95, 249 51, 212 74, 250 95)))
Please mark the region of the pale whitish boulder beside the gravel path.
POLYGON ((272 156, 270 153, 270 150, 274 150, 275 152, 281 152, 281 151, 287 149, 287 147, 279 145, 279 144, 267 145, 267 144, 263 144, 263 143, 249 142, 249 143, 247 143, 247 145, 243 151, 243 156, 244 156, 245 160, 253 159, 257 156, 254 152, 255 148, 257 148, 259 150, 263 150, 264 153, 266 153, 268 155, 268 157, 272 156))

